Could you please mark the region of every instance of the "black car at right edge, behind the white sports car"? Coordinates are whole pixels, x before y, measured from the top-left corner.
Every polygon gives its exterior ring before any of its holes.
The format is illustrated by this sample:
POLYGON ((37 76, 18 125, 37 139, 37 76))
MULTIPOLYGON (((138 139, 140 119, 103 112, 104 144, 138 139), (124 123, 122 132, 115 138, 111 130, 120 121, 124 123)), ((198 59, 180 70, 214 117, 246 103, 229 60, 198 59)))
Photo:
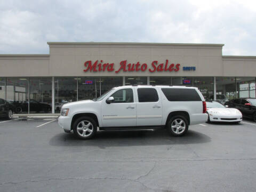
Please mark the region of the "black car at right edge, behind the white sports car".
POLYGON ((256 122, 256 99, 239 98, 227 101, 225 103, 230 108, 236 108, 243 114, 243 117, 253 118, 256 122))

